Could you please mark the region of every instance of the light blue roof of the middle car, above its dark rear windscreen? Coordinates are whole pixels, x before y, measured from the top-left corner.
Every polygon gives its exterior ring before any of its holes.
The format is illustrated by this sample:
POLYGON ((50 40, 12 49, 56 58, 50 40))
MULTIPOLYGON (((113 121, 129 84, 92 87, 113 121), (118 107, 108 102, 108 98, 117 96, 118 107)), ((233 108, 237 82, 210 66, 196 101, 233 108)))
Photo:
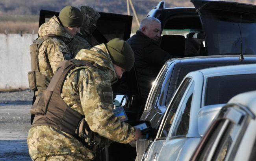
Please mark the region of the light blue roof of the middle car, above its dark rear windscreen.
POLYGON ((252 74, 252 73, 256 73, 256 64, 240 64, 240 65, 213 67, 213 68, 198 70, 195 72, 201 72, 205 78, 217 77, 217 76, 223 76, 223 75, 252 74))

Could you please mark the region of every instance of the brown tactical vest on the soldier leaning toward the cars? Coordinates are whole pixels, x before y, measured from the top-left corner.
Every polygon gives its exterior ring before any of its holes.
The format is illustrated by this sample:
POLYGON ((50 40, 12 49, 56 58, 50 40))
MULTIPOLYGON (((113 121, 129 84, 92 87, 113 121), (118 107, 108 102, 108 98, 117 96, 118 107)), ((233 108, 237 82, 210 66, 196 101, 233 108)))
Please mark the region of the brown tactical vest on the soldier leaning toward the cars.
POLYGON ((35 115, 32 127, 46 125, 58 128, 73 135, 88 148, 95 149, 92 146, 96 146, 94 139, 96 133, 90 130, 84 115, 70 108, 61 98, 61 89, 67 74, 77 66, 102 68, 96 63, 75 59, 64 60, 59 64, 47 89, 37 96, 30 110, 30 113, 35 115))

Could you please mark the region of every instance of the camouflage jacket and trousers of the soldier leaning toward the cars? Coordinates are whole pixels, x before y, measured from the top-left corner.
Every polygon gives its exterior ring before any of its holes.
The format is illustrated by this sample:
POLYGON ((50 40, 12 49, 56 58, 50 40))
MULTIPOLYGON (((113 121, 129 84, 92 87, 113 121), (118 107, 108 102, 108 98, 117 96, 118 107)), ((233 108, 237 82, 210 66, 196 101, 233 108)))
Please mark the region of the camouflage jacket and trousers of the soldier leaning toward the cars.
MULTIPOLYGON (((117 80, 117 74, 106 46, 100 44, 91 50, 81 49, 76 59, 95 62, 104 70, 89 66, 71 70, 63 84, 62 99, 70 108, 85 115, 93 132, 119 143, 133 141, 135 128, 120 121, 112 112, 111 83, 117 80)), ((72 135, 50 126, 32 127, 27 143, 33 160, 46 157, 53 160, 91 160, 95 157, 95 152, 72 135)))

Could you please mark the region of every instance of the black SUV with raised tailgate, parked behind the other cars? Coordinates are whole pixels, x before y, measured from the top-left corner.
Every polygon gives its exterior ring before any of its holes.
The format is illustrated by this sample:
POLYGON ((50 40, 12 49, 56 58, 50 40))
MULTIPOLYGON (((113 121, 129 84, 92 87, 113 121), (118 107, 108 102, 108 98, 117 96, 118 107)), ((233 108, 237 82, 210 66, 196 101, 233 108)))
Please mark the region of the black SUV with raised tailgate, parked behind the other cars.
POLYGON ((147 16, 161 21, 161 48, 182 57, 233 55, 241 51, 255 55, 255 5, 208 0, 191 2, 195 8, 165 8, 161 1, 148 13, 147 16))

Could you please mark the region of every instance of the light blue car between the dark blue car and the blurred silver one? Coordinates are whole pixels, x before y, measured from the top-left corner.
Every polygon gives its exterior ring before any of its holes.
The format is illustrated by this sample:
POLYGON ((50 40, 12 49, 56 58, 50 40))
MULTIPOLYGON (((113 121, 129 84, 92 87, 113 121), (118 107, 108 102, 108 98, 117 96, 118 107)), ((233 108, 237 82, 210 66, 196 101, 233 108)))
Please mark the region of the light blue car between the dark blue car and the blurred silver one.
POLYGON ((189 160, 223 104, 238 93, 256 90, 255 80, 256 64, 207 68, 187 74, 142 160, 189 160))

